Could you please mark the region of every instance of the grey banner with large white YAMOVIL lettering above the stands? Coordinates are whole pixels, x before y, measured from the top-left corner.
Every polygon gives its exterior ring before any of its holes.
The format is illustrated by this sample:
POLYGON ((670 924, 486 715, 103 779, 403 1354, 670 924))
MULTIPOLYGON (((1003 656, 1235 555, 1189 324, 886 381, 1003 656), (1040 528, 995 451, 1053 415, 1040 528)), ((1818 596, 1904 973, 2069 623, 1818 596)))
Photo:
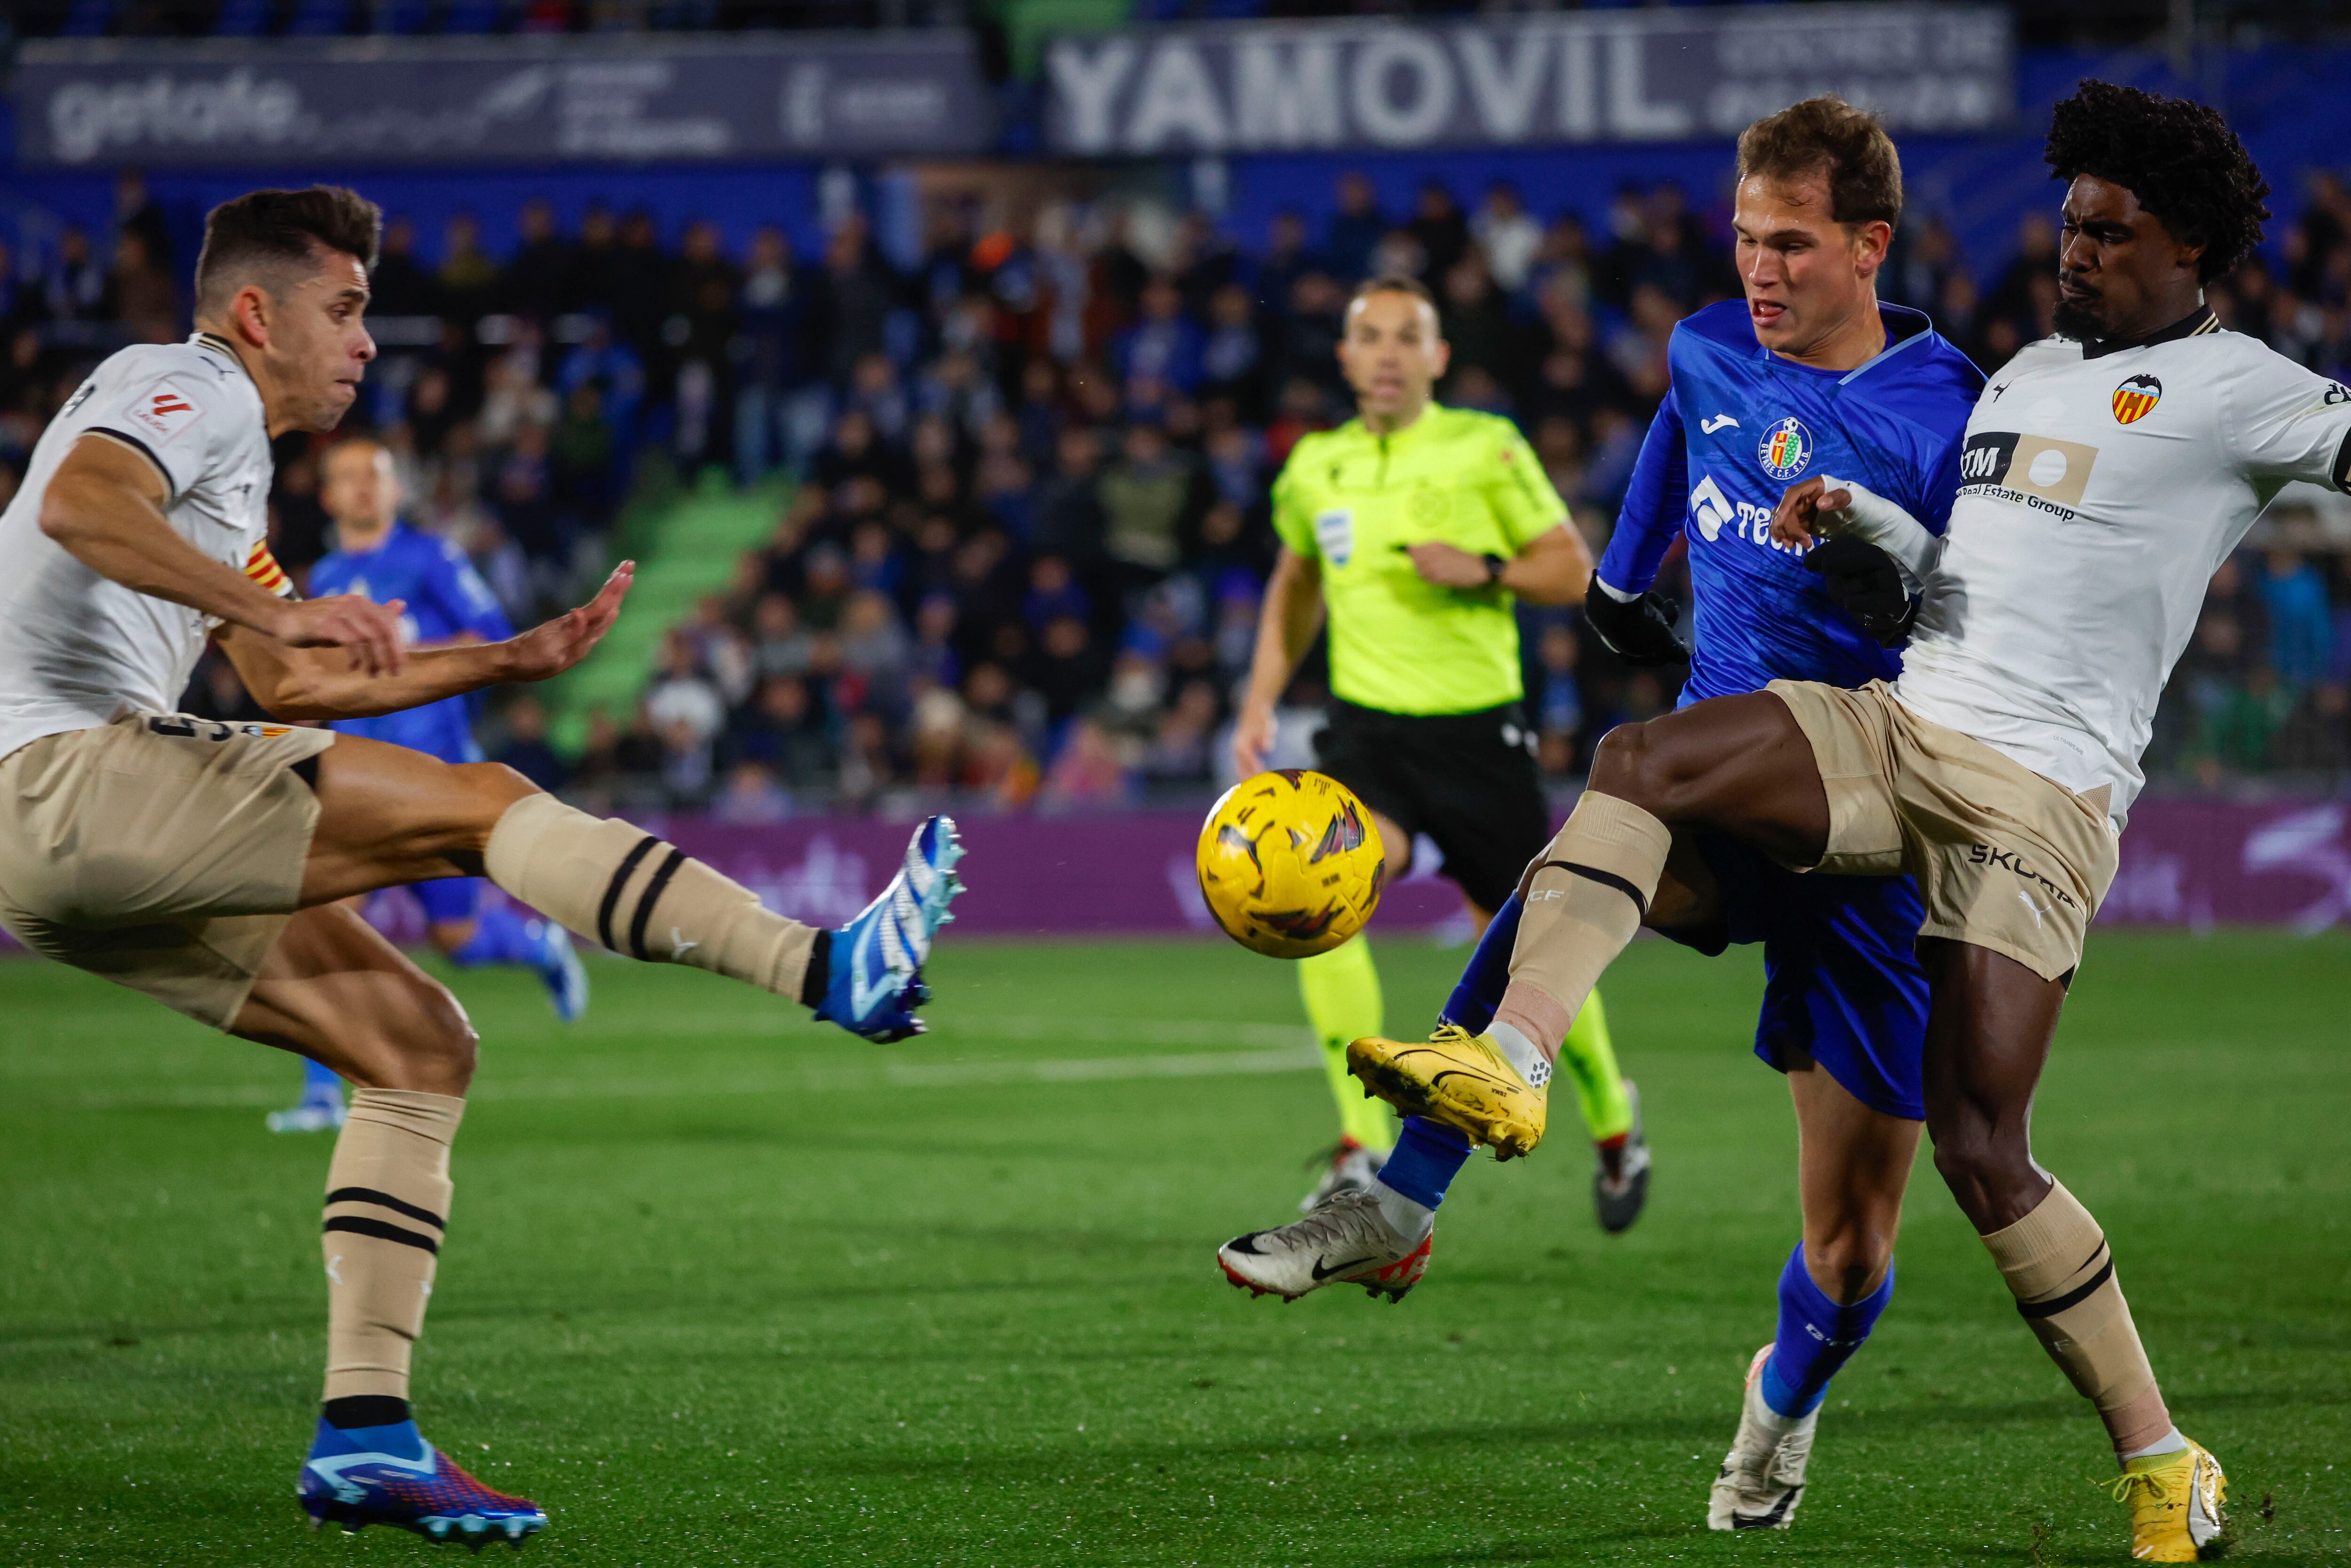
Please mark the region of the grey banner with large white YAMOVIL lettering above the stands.
POLYGON ((1956 134, 2008 122, 2015 31, 1940 5, 1187 26, 1056 38, 1046 89, 1079 158, 1704 141, 1815 92, 1956 134))

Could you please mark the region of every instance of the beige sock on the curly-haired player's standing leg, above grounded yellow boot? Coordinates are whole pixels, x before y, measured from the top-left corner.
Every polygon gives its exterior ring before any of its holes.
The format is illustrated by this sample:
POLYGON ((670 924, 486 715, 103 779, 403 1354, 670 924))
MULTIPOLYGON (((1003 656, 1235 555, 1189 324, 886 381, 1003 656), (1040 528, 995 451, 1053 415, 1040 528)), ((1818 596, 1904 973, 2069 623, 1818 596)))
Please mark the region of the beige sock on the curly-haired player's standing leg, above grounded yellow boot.
MULTIPOLYGON (((2064 1182, 2052 1182, 2029 1215, 1984 1237, 1984 1248, 2041 1347, 2109 1427, 2125 1406, 2154 1394, 2156 1371, 2114 1276, 2106 1234, 2064 1182)), ((2154 1413, 2161 1415, 2161 1403, 2154 1413)))

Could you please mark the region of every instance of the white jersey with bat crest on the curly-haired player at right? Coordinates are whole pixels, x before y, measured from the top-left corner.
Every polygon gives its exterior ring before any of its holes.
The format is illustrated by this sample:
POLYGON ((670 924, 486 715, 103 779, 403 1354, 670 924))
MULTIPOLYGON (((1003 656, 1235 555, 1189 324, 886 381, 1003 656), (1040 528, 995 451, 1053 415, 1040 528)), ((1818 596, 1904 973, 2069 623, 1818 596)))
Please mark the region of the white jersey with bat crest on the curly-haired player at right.
POLYGON ((2290 480, 2335 487, 2351 390, 2201 313, 2132 346, 2031 343, 1968 418, 1895 696, 2121 827, 2205 585, 2290 480))

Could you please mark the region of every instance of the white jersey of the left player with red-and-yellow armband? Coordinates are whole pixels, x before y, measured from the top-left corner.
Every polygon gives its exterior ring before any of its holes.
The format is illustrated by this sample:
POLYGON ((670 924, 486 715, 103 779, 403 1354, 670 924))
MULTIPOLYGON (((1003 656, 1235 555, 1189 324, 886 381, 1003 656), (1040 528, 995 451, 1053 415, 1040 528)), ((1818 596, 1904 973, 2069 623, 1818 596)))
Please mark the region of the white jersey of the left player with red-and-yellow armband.
POLYGON ((113 583, 40 531, 40 503, 85 435, 143 451, 162 473, 165 520, 190 545, 273 592, 270 437, 261 393, 209 334, 110 355, 33 447, 0 512, 0 757, 125 712, 169 712, 205 651, 205 616, 113 583))

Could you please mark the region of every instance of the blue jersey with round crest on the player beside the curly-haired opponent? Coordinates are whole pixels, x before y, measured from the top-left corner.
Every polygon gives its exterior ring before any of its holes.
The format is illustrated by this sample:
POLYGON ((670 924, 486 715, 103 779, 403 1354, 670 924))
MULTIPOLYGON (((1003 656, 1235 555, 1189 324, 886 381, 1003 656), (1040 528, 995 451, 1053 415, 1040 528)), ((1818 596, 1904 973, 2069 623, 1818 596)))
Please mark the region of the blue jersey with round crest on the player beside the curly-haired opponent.
POLYGON ((1747 301, 1674 327, 1665 404, 1641 442, 1601 581, 1646 592, 1676 534, 1690 541, 1695 651, 1681 701, 1775 679, 1860 686, 1902 656, 1838 611, 1803 555, 1770 541, 1780 494, 1808 475, 1857 480, 1942 534, 1984 376, 1916 310, 1878 306, 1886 350, 1850 371, 1782 360, 1747 301))

